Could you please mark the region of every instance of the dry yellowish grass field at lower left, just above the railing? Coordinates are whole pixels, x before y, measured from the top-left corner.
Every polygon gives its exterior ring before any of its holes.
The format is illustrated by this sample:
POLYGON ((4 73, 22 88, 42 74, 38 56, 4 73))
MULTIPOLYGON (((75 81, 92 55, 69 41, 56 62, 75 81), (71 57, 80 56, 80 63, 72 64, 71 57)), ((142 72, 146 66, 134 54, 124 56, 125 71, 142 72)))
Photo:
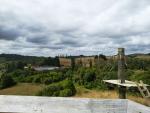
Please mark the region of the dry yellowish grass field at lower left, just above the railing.
POLYGON ((0 95, 35 95, 42 85, 31 83, 19 83, 13 87, 0 90, 0 95))

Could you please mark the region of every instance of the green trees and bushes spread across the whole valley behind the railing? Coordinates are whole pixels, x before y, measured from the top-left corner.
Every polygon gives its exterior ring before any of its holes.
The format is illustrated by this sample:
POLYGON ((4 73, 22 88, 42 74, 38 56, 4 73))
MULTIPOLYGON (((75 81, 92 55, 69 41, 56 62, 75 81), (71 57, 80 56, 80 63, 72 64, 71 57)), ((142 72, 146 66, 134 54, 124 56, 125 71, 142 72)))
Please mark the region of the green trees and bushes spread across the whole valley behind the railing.
MULTIPOLYGON (((0 88, 15 87, 15 84, 17 84, 16 87, 18 84, 26 83, 37 86, 42 84, 44 87, 38 88, 36 95, 62 97, 73 96, 76 92, 79 94, 78 87, 87 89, 85 92, 104 91, 108 87, 102 80, 117 79, 117 62, 107 59, 104 55, 100 55, 100 57, 102 60, 93 67, 75 66, 75 62, 73 62, 70 69, 38 72, 31 68, 24 69, 24 66, 29 64, 59 66, 58 57, 2 54, 0 55, 0 88)), ((74 61, 74 57, 71 59, 74 61)), ((144 57, 134 55, 128 56, 126 78, 132 81, 143 80, 144 83, 150 84, 150 60, 148 57, 144 59, 144 57)))

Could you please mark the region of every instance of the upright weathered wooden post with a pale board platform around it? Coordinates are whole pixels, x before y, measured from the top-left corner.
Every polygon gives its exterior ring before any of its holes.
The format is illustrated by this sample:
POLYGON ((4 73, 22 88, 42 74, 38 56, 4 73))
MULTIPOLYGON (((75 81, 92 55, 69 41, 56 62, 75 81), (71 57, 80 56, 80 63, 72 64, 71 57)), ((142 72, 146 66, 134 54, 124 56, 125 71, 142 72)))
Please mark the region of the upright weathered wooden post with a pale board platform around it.
MULTIPOLYGON (((118 48, 118 80, 125 83, 125 52, 124 48, 118 48)), ((119 98, 126 99, 126 87, 119 86, 119 98)))

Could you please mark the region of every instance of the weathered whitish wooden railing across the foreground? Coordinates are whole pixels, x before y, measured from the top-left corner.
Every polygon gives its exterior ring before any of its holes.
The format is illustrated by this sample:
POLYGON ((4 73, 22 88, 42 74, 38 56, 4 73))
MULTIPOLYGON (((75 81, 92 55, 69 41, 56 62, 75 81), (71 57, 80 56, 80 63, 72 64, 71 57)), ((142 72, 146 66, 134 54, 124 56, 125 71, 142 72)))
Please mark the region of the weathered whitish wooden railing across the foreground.
POLYGON ((150 113, 150 108, 128 100, 37 96, 0 96, 0 112, 23 113, 150 113), (135 111, 134 108, 138 107, 135 111), (139 111, 139 112, 138 112, 139 111))

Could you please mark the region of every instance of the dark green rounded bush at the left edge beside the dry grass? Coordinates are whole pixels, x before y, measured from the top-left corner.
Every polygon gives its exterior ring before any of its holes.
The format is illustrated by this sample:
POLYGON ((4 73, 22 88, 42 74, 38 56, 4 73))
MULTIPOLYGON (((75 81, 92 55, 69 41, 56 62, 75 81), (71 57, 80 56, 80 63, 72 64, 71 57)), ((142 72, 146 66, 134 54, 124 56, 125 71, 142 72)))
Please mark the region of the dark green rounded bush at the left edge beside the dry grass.
POLYGON ((7 88, 7 87, 13 86, 15 84, 16 84, 16 82, 12 79, 11 76, 4 75, 4 74, 1 75, 0 89, 7 88))

